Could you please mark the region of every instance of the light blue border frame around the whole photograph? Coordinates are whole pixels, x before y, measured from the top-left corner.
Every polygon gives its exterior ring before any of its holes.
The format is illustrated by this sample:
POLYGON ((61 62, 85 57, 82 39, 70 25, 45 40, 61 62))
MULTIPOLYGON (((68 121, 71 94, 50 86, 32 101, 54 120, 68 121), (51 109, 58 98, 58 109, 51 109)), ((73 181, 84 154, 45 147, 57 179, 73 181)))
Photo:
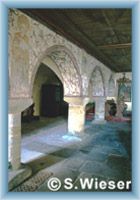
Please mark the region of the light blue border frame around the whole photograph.
POLYGON ((140 2, 139 0, 0 1, 0 199, 140 199, 140 2), (8 9, 9 8, 132 9, 132 192, 8 192, 8 9))

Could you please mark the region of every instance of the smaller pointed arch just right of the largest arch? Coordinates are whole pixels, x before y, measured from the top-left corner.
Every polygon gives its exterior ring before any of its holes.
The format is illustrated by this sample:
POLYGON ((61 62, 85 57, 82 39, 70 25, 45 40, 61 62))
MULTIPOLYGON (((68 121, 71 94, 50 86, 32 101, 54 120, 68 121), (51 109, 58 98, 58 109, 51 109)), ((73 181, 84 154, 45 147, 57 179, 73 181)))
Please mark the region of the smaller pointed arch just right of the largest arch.
POLYGON ((89 96, 105 96, 104 77, 99 66, 91 74, 88 87, 89 96))

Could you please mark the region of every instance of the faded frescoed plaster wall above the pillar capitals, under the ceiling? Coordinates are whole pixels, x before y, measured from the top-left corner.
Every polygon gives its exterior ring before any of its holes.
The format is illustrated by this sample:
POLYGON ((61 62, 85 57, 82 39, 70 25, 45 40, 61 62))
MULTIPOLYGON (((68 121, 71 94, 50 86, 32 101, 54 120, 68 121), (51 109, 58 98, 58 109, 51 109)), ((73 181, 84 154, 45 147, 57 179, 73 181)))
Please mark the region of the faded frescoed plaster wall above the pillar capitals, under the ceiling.
POLYGON ((56 63, 67 96, 88 96, 95 66, 100 66, 105 84, 108 82, 111 71, 100 61, 17 10, 10 12, 9 42, 11 98, 32 96, 36 72, 46 56, 56 63))

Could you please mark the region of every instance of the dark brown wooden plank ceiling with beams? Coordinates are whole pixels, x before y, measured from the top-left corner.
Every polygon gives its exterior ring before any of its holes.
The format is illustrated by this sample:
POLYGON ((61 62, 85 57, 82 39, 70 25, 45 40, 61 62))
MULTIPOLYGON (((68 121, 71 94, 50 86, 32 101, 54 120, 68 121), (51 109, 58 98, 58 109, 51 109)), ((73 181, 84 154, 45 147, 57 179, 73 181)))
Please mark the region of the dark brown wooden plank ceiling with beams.
POLYGON ((131 71, 131 9, 20 9, 115 72, 131 71))

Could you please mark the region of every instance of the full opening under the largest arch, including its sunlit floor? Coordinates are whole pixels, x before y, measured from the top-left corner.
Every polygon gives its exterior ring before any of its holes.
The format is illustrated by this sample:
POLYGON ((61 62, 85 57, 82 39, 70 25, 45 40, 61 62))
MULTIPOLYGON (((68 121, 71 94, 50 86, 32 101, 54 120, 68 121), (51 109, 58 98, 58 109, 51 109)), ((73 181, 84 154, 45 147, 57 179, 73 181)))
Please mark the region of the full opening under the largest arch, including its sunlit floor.
POLYGON ((22 112, 22 163, 59 149, 60 134, 67 133, 68 103, 63 100, 63 84, 46 64, 38 68, 32 94, 33 104, 22 112))

